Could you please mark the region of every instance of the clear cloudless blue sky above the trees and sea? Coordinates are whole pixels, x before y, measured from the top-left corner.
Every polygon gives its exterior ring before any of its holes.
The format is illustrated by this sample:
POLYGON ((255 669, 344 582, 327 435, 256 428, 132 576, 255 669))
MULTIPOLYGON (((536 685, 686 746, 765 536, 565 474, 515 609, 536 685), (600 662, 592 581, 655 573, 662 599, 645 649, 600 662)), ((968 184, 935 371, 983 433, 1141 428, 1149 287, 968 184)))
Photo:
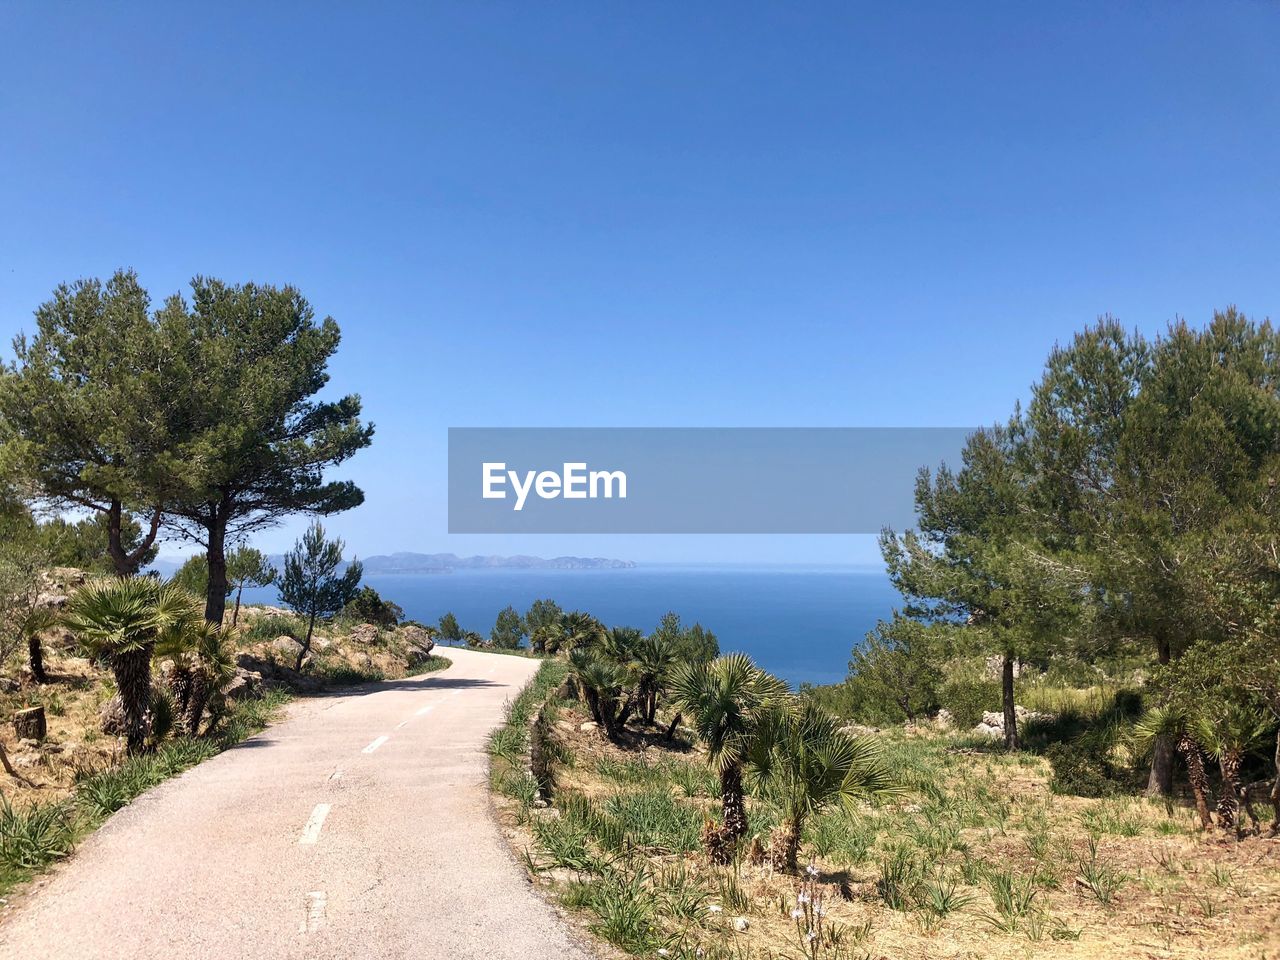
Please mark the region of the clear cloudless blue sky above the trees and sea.
POLYGON ((6 3, 0 335, 120 265, 293 283, 361 554, 860 562, 449 538, 445 429, 1002 419, 1098 314, 1275 312, 1277 170, 1272 3, 6 3))

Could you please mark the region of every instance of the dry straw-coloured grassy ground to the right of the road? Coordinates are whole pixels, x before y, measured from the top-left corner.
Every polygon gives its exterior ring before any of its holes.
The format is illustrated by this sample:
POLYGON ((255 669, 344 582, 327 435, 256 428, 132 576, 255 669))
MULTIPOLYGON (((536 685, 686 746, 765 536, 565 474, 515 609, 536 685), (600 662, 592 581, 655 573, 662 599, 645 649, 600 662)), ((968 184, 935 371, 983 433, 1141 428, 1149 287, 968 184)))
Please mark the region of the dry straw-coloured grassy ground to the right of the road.
MULTIPOLYGON (((801 878, 713 868, 690 844, 690 823, 716 810, 700 754, 657 736, 618 746, 580 730, 585 721, 575 704, 561 707, 567 759, 553 806, 508 790, 500 808, 538 882, 616 950, 744 959, 1280 952, 1276 840, 1204 837, 1190 810, 1142 797, 1059 796, 1034 755, 918 732, 882 735, 908 797, 826 813, 806 829, 828 924, 812 947, 792 918, 801 878), (745 931, 735 929, 739 918, 745 931)), ((776 820, 764 803, 750 813, 753 832, 776 820)))

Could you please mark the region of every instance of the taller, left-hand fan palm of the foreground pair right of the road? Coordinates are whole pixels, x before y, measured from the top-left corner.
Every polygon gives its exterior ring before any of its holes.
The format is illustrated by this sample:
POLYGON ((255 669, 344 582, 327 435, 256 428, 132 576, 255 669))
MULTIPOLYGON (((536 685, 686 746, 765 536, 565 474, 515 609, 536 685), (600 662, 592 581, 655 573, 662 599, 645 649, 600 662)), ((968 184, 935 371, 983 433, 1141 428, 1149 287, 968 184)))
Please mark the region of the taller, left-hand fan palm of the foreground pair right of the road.
POLYGON ((709 663, 685 663, 672 673, 671 698, 707 745, 721 782, 721 827, 707 831, 712 859, 727 863, 746 835, 742 767, 762 722, 790 696, 786 684, 732 653, 709 663))

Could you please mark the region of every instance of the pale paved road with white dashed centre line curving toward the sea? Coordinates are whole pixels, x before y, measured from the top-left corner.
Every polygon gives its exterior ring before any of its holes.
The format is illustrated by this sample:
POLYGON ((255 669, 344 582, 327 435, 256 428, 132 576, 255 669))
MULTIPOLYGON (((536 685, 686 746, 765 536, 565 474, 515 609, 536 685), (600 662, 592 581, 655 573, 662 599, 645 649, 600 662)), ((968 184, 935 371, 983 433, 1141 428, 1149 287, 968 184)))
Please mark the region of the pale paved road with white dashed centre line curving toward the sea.
POLYGON ((0 923, 0 957, 577 957, 490 815, 484 739, 536 664, 302 700, 138 797, 0 923))

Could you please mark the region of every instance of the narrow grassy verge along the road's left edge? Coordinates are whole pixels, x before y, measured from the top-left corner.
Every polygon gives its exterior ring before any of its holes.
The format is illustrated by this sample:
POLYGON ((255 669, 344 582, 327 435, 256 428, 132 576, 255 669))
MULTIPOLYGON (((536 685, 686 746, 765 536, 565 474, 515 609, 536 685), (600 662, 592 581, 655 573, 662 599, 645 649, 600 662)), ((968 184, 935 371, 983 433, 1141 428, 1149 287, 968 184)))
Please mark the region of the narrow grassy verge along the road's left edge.
POLYGON ((0 895, 70 856, 76 844, 154 786, 262 730, 289 700, 279 691, 228 713, 214 736, 178 739, 101 771, 82 771, 67 800, 24 808, 0 796, 0 895))

